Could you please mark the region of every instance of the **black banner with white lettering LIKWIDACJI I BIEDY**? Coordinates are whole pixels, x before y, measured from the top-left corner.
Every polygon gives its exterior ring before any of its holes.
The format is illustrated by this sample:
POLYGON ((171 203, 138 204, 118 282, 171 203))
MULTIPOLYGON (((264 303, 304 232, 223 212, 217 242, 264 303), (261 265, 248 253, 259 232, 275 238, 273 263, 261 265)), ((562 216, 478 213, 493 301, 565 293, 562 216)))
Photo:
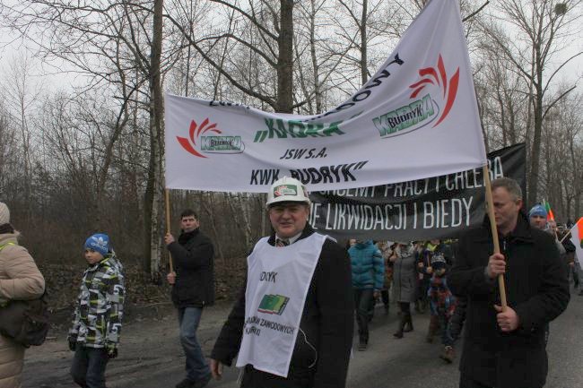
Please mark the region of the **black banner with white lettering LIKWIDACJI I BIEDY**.
MULTIPOLYGON (((524 143, 489 153, 490 178, 514 178, 525 190, 525 160, 524 143)), ((310 200, 309 223, 319 233, 338 239, 457 237, 464 228, 483 221, 483 169, 391 185, 314 192, 310 200)))

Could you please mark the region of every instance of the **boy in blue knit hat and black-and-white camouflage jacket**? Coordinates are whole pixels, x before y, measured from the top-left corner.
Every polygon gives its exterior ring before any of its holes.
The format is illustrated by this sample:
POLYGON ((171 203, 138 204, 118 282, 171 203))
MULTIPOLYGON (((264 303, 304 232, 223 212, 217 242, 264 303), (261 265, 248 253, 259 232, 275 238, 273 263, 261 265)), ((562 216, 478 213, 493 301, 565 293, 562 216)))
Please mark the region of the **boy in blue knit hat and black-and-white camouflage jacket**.
POLYGON ((85 241, 88 267, 83 272, 67 341, 74 351, 71 376, 87 388, 105 388, 105 368, 117 357, 124 311, 123 267, 105 234, 85 241))

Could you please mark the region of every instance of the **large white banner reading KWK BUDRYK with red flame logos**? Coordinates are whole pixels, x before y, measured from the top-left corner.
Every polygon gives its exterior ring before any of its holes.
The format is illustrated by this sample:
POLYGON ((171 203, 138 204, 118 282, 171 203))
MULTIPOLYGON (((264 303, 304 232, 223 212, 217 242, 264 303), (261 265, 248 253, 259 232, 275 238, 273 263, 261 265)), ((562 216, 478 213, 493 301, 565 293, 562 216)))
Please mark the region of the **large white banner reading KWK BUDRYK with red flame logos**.
POLYGON ((319 116, 167 94, 166 186, 265 192, 384 185, 486 164, 457 1, 432 0, 379 71, 319 116))

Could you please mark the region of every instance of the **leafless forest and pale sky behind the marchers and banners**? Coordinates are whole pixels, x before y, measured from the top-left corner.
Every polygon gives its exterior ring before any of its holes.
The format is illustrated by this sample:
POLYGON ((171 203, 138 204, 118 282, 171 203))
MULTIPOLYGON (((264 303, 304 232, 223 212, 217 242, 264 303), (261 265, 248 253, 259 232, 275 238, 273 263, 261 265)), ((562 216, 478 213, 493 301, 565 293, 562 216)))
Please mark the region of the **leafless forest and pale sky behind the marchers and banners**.
MULTIPOLYGON (((426 2, 0 0, 0 201, 51 306, 72 303, 96 231, 126 266, 131 302, 168 299, 164 91, 325 112, 368 81, 426 2)), ((526 142, 526 204, 546 199, 560 222, 583 204, 582 3, 460 1, 486 151, 526 142)), ((232 297, 269 232, 265 194, 172 191, 170 203, 175 233, 182 209, 199 213, 218 295, 232 297)))

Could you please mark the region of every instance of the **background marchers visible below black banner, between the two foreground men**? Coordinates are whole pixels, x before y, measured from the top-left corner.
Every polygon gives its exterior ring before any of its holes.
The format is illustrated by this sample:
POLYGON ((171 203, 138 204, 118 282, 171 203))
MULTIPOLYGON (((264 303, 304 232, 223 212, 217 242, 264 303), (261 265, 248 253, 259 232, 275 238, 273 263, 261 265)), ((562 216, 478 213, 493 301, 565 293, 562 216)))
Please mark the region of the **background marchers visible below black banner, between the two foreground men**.
POLYGON ((396 339, 413 331, 414 311, 429 314, 425 340, 433 342, 440 334, 443 351, 440 358, 452 363, 454 344, 465 319, 463 297, 454 297, 448 288, 448 271, 454 261, 451 240, 390 242, 351 239, 348 253, 352 264, 352 289, 358 323, 358 350, 366 350, 370 341, 368 325, 374 307, 382 301, 385 314, 391 301, 398 306, 396 339))

